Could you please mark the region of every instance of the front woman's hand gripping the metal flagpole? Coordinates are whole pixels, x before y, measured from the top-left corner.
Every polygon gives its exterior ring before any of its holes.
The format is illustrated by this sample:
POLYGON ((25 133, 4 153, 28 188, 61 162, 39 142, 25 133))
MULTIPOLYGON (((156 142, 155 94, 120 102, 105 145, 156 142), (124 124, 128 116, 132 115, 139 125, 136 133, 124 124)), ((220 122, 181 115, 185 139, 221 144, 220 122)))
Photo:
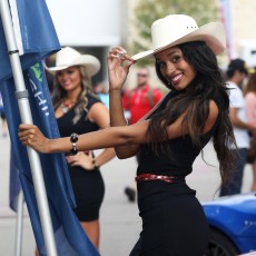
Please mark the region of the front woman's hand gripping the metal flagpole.
POLYGON ((20 125, 18 136, 24 146, 38 152, 50 152, 50 139, 46 138, 35 125, 20 125))

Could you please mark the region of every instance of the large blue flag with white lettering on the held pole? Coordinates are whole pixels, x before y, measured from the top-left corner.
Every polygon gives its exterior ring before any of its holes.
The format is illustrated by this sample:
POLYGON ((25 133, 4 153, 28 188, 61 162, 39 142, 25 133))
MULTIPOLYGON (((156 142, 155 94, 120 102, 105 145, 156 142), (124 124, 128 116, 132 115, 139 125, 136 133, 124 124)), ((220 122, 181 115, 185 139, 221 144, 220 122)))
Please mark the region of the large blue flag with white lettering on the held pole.
MULTIPOLYGON (((29 92, 33 122, 47 137, 57 138, 59 137, 59 130, 41 60, 60 49, 59 41, 45 0, 18 0, 14 3, 17 3, 19 30, 22 39, 23 56, 21 56, 21 66, 29 92)), ((16 17, 14 12, 12 13, 13 17, 16 17)), ((1 22, 0 90, 11 138, 13 168, 19 170, 20 184, 39 253, 40 255, 46 255, 28 154, 17 135, 21 120, 14 97, 16 88, 1 22)), ((41 154, 40 161, 58 255, 99 255, 73 213, 75 199, 65 156, 62 154, 41 154)))

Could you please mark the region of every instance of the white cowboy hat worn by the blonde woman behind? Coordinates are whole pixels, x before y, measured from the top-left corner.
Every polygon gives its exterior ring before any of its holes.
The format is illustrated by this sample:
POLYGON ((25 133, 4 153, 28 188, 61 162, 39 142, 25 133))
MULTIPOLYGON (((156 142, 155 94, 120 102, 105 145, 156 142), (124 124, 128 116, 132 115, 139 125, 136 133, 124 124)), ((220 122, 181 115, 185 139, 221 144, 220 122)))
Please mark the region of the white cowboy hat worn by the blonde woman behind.
POLYGON ((67 69, 72 66, 85 66, 88 76, 96 75, 100 69, 99 60, 91 55, 81 55, 71 47, 65 47, 56 55, 56 66, 46 67, 52 73, 59 70, 67 69))

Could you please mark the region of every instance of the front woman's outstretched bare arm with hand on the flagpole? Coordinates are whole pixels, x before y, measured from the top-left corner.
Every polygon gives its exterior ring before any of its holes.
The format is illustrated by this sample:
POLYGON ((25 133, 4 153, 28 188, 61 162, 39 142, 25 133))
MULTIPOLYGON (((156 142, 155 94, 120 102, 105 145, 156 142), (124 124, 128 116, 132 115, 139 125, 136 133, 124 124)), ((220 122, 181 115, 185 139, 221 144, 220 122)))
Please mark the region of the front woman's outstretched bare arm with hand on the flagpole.
MULTIPOLYGON (((79 136, 77 148, 79 151, 111 148, 117 146, 139 145, 146 142, 148 121, 126 127, 109 127, 104 130, 79 136)), ((48 139, 35 125, 20 125, 19 137, 24 146, 32 147, 39 152, 69 152, 71 142, 69 137, 48 139)))

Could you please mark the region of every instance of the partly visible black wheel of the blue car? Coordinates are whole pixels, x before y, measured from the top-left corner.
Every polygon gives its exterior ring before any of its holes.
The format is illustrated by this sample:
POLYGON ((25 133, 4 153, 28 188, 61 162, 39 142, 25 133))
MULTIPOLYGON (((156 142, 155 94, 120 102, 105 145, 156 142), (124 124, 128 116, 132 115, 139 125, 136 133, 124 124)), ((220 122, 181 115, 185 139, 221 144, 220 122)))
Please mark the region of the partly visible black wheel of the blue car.
POLYGON ((227 236, 215 228, 210 228, 210 238, 205 256, 234 256, 239 253, 227 236))

